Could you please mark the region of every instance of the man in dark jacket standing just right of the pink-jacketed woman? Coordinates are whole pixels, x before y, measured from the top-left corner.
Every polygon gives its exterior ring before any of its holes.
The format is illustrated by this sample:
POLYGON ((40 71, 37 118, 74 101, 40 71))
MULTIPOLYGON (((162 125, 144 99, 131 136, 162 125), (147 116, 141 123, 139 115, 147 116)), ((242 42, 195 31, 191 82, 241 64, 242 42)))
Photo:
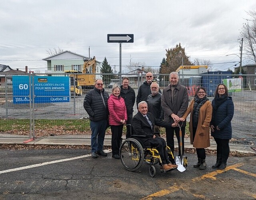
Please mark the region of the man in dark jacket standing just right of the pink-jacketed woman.
MULTIPOLYGON (((127 110, 127 121, 126 124, 132 125, 132 114, 133 114, 133 106, 135 103, 135 92, 134 89, 132 89, 129 86, 129 78, 124 77, 122 80, 122 86, 121 86, 121 92, 120 96, 124 98, 126 110, 127 110)), ((130 137, 130 127, 127 127, 126 125, 126 138, 130 137)))

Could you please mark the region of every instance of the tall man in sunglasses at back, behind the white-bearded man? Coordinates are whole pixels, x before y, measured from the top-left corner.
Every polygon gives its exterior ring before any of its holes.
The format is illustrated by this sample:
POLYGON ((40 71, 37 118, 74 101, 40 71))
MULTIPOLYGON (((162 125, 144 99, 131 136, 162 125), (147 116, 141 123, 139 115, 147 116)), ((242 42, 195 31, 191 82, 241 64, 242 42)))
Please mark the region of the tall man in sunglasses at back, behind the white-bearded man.
MULTIPOLYGON (((146 81, 143 82, 142 85, 138 89, 138 94, 136 97, 137 108, 138 108, 138 104, 141 101, 146 101, 148 98, 148 95, 151 94, 150 85, 152 84, 153 78, 154 77, 151 72, 146 73, 146 81)), ((159 90, 159 92, 162 93, 161 90, 159 90)))

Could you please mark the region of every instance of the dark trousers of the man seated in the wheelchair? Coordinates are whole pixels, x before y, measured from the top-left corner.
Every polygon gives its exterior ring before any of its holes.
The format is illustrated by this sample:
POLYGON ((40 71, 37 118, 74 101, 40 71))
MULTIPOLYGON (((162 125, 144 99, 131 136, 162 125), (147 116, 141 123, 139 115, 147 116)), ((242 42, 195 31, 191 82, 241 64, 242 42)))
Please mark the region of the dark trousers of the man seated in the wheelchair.
POLYGON ((168 154, 166 151, 166 142, 164 138, 150 138, 144 142, 145 146, 151 146, 158 150, 162 164, 168 164, 168 154))

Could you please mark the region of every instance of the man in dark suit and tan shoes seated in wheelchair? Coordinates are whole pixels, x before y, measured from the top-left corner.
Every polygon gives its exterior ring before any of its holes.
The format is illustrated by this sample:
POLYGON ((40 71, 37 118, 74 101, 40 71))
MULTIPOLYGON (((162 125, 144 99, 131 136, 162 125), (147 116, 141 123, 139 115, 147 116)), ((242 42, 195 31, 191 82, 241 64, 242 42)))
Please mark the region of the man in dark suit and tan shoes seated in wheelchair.
POLYGON ((171 127, 171 124, 154 118, 153 114, 148 112, 148 104, 145 101, 138 104, 138 111, 139 112, 132 119, 133 134, 143 136, 140 140, 143 142, 144 146, 151 146, 158 150, 163 165, 160 167, 160 170, 168 171, 177 168, 178 165, 172 164, 168 160, 164 138, 159 138, 154 135, 155 124, 165 128, 171 127))

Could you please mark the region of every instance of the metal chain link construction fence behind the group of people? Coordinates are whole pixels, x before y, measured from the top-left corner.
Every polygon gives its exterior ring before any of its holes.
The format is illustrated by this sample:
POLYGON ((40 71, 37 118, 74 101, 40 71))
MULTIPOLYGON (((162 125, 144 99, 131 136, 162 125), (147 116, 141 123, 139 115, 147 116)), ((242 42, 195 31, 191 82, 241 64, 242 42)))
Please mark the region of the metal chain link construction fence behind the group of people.
MULTIPOLYGON (((88 90, 93 88, 92 84, 79 85, 79 80, 74 74, 32 73, 27 76, 24 74, 2 74, 0 76, 0 137, 36 138, 62 135, 62 138, 69 138, 70 134, 77 134, 79 135, 78 138, 85 138, 86 134, 90 134, 90 128, 86 126, 89 124, 89 120, 86 120, 88 114, 83 108, 83 101, 88 90), (50 82, 44 82, 46 81, 44 80, 45 77, 52 77, 53 84, 56 85, 52 86, 50 82), (60 77, 63 79, 58 82, 60 77), (42 81, 40 82, 41 85, 38 84, 38 80, 42 81), (64 86, 67 80, 68 86, 64 86), (48 83, 48 85, 45 86, 44 83, 48 83), (55 86, 57 89, 54 88, 55 86), (46 89, 50 91, 47 93, 46 89), (20 90, 28 90, 28 92, 26 94, 19 93, 20 90), (60 96, 56 97, 55 93, 60 96), (45 98, 50 98, 50 100, 45 100, 45 98), (64 101, 56 102, 58 98, 64 98, 64 101)), ((123 77, 129 77, 130 86, 136 94, 138 87, 146 81, 145 75, 142 73, 90 74, 89 76, 93 76, 94 80, 101 78, 108 94, 111 94, 111 88, 114 84, 121 84, 123 77)), ((231 143, 255 145, 256 74, 238 76, 236 74, 209 72, 200 75, 186 74, 186 76, 179 74, 179 79, 179 82, 188 89, 190 100, 192 100, 197 87, 204 86, 208 98, 212 101, 217 85, 225 83, 235 107, 231 143)), ((158 82, 162 90, 170 84, 169 74, 154 74, 153 81, 158 82)), ((136 113, 135 103, 134 114, 136 113)))

